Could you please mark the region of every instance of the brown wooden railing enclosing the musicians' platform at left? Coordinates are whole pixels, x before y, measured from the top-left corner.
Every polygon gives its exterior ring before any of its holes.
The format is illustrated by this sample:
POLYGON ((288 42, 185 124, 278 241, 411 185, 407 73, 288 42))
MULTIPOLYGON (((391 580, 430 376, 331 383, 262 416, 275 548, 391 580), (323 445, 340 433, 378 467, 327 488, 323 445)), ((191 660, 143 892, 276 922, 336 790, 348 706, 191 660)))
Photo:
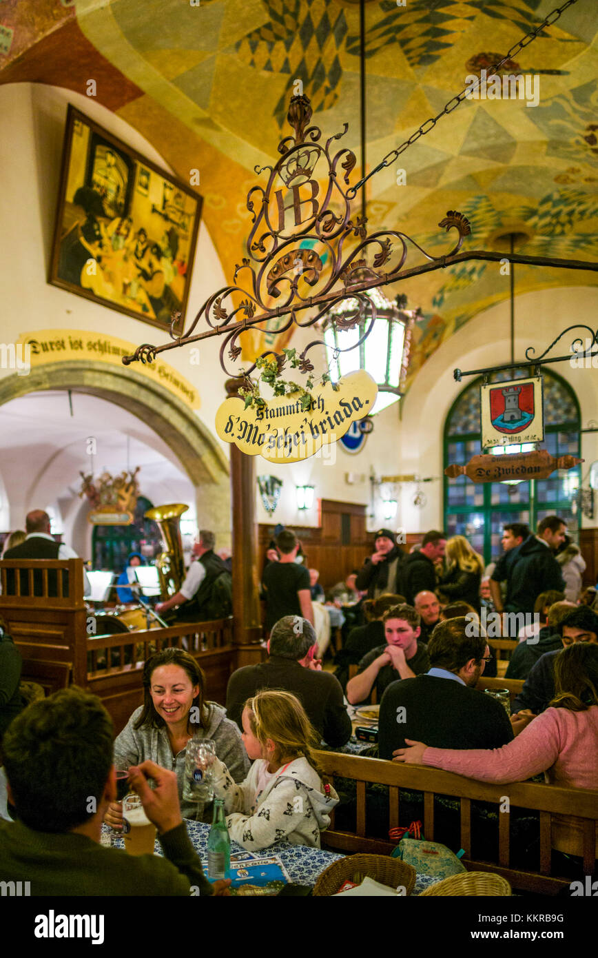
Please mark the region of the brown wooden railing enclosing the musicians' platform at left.
POLYGON ((237 665, 232 618, 91 636, 81 559, 5 559, 0 584, 0 616, 21 652, 23 677, 48 693, 71 683, 94 692, 117 732, 143 701, 144 661, 167 646, 188 650, 206 673, 207 697, 224 703, 237 665))

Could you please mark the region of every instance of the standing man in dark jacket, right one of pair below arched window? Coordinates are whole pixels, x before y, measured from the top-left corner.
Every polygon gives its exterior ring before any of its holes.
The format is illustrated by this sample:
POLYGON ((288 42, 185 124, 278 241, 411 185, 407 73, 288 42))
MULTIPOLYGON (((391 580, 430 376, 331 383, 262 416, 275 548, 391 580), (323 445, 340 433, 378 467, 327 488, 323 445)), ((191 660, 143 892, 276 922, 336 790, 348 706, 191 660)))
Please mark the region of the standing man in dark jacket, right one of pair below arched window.
POLYGON ((540 592, 548 589, 564 590, 561 566, 554 552, 564 541, 566 525, 558 515, 547 515, 538 524, 538 535, 529 536, 519 547, 517 557, 509 569, 507 612, 530 615, 540 592))

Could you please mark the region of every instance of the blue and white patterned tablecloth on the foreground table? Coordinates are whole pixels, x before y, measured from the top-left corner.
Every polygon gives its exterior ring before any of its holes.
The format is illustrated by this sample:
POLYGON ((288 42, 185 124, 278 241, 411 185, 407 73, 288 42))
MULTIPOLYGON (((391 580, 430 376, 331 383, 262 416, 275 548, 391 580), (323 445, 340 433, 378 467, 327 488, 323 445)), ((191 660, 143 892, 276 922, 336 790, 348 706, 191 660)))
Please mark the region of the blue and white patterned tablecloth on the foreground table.
MULTIPOLYGON (((189 819, 185 819, 185 824, 196 853, 201 858, 204 871, 207 871, 207 845, 210 826, 204 822, 192 822, 189 819)), ((111 830, 103 825, 102 831, 104 840, 108 840, 111 830)), ((121 837, 114 838, 113 845, 116 848, 123 848, 123 839, 121 837)), ((231 841, 231 855, 243 852, 244 849, 241 845, 236 841, 231 841)), ((154 855, 163 855, 162 846, 157 838, 154 855)), ((314 885, 316 878, 325 868, 328 868, 333 861, 338 861, 339 858, 344 857, 344 855, 337 855, 334 852, 324 852, 319 848, 309 848, 307 845, 291 845, 287 841, 277 841, 260 855, 278 855, 288 871, 288 877, 297 885, 314 885)), ((418 875, 412 894, 421 895, 425 888, 434 884, 437 880, 437 878, 432 878, 429 875, 418 875)))

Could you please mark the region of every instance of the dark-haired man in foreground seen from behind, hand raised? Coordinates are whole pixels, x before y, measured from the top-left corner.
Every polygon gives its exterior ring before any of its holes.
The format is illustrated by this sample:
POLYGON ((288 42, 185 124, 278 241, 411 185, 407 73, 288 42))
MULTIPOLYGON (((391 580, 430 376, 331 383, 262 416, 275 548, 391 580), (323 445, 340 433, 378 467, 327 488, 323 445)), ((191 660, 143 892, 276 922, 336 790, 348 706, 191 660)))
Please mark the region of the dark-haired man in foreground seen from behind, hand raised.
POLYGON ((34 702, 5 733, 9 801, 0 822, 0 880, 28 881, 32 896, 228 894, 210 884, 181 818, 176 775, 153 762, 129 769, 165 858, 132 857, 100 844, 116 799, 112 720, 97 696, 76 687, 34 702), (154 787, 150 789, 148 779, 154 787), (168 860, 167 860, 168 859, 168 860))

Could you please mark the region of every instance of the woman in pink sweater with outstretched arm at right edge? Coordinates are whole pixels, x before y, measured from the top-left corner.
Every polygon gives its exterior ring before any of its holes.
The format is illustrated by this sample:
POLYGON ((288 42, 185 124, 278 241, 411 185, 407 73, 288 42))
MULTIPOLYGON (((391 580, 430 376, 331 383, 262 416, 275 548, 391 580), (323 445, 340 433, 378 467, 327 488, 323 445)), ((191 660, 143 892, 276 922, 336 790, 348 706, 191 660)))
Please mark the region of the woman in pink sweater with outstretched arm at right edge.
POLYGON ((544 772, 554 785, 598 788, 598 646, 580 642, 555 663, 555 697, 517 738, 502 748, 411 746, 393 753, 394 762, 433 765, 482 782, 524 782, 544 772))

